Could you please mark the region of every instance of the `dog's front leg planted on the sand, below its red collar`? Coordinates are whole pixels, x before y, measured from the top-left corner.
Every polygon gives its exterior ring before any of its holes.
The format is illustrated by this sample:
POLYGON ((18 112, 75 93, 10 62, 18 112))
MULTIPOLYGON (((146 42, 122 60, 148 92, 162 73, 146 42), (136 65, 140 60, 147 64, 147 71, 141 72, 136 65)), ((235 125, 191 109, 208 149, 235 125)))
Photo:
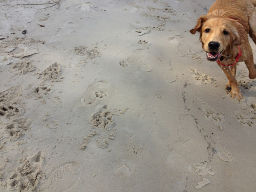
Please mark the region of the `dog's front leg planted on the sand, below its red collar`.
MULTIPOLYGON (((217 62, 218 63, 218 62, 217 62)), ((230 91, 230 95, 232 98, 237 98, 238 100, 243 99, 243 95, 241 94, 239 87, 238 87, 238 82, 236 80, 236 77, 234 76, 236 74, 235 71, 233 71, 236 68, 232 69, 232 72, 230 71, 229 67, 227 66, 221 66, 219 63, 218 65, 220 66, 220 68, 222 69, 222 71, 225 73, 227 79, 228 79, 228 83, 227 86, 230 85, 231 87, 231 91, 230 91), (232 74, 233 73, 233 74, 232 74)))

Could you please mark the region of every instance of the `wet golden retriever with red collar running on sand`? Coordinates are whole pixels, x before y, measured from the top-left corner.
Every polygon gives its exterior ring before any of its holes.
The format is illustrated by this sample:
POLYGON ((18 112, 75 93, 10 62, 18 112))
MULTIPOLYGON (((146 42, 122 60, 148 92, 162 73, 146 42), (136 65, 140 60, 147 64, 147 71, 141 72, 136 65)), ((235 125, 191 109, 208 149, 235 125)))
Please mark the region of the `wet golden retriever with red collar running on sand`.
POLYGON ((225 73, 227 90, 241 100, 236 80, 237 63, 245 62, 249 78, 256 78, 248 34, 256 44, 256 0, 217 0, 206 15, 199 17, 190 33, 200 33, 207 60, 217 61, 225 73))

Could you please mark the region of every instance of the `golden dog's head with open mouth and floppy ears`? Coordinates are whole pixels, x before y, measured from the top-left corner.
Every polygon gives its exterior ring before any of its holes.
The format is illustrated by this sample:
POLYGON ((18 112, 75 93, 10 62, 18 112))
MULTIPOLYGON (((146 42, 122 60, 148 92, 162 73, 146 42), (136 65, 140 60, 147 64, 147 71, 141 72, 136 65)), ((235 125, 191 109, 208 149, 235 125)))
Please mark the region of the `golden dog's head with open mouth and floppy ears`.
POLYGON ((216 61, 223 51, 230 50, 232 46, 240 46, 241 38, 238 33, 239 23, 231 18, 201 16, 190 33, 200 33, 202 48, 210 61, 216 61))

